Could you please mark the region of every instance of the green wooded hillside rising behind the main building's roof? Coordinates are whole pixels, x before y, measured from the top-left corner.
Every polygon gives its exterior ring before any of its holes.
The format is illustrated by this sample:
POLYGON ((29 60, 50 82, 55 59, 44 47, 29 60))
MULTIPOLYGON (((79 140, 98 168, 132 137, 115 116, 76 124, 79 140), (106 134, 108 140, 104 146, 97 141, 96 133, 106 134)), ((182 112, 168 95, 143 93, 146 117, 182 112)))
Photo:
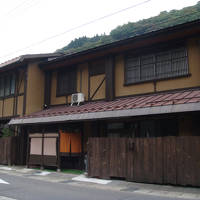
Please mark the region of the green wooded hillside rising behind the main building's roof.
POLYGON ((80 52, 86 49, 105 45, 113 41, 122 40, 136 35, 157 31, 170 26, 186 23, 200 19, 200 2, 195 6, 181 10, 163 11, 155 17, 143 19, 138 22, 129 22, 118 26, 110 32, 110 35, 95 35, 94 37, 80 37, 72 40, 67 46, 58 49, 56 52, 66 54, 80 52))

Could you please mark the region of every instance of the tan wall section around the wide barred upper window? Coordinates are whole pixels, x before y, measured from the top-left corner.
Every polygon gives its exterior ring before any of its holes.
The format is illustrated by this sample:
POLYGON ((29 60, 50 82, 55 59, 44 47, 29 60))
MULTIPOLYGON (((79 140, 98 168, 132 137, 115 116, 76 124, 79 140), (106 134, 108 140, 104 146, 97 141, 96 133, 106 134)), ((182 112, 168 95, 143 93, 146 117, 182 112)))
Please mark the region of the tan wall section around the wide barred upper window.
POLYGON ((188 51, 189 77, 156 82, 149 81, 147 83, 132 84, 129 86, 124 85, 124 55, 118 55, 115 59, 115 95, 119 97, 200 86, 200 79, 198 78, 200 74, 200 48, 198 39, 189 39, 186 42, 186 47, 188 51))

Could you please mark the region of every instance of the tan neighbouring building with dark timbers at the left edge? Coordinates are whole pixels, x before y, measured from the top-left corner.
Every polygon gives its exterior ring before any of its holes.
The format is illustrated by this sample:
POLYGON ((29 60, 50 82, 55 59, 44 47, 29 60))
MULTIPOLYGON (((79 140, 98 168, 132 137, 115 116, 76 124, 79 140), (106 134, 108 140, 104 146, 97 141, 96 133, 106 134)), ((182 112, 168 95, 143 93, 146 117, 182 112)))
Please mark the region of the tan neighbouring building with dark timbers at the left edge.
MULTIPOLYGON (((1 130, 10 119, 22 117, 43 109, 44 75, 43 71, 38 67, 38 63, 59 55, 22 55, 0 64, 1 130)), ((19 127, 14 131, 16 135, 23 135, 23 131, 19 127)), ((24 139, 23 136, 21 138, 22 140, 24 139)), ((21 148, 23 148, 23 144, 21 148)), ((21 157, 25 157, 24 155, 26 154, 22 154, 21 157)))

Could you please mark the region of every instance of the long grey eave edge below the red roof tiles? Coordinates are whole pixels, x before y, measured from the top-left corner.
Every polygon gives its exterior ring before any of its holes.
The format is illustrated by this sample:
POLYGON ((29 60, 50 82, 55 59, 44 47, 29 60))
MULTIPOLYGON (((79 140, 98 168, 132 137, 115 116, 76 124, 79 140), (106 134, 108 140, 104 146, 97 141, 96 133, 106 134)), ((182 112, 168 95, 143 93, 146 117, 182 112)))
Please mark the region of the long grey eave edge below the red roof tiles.
POLYGON ((183 112, 200 111, 200 103, 188 103, 179 105, 155 106, 147 108, 135 108, 128 110, 103 111, 70 115, 57 115, 50 117, 35 117, 12 119, 9 125, 30 125, 30 124, 48 124, 48 123, 63 123, 63 122, 78 122, 87 120, 100 119, 116 119, 136 116, 149 116, 158 114, 174 114, 183 112))

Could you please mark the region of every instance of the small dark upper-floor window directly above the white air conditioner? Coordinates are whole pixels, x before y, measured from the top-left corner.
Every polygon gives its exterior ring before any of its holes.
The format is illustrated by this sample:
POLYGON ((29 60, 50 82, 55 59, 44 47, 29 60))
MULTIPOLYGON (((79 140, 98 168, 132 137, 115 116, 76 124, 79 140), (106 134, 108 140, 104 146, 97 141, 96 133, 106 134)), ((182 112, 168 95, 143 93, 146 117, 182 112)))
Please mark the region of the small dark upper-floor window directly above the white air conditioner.
POLYGON ((76 93, 76 70, 59 71, 57 74, 57 96, 76 93))

